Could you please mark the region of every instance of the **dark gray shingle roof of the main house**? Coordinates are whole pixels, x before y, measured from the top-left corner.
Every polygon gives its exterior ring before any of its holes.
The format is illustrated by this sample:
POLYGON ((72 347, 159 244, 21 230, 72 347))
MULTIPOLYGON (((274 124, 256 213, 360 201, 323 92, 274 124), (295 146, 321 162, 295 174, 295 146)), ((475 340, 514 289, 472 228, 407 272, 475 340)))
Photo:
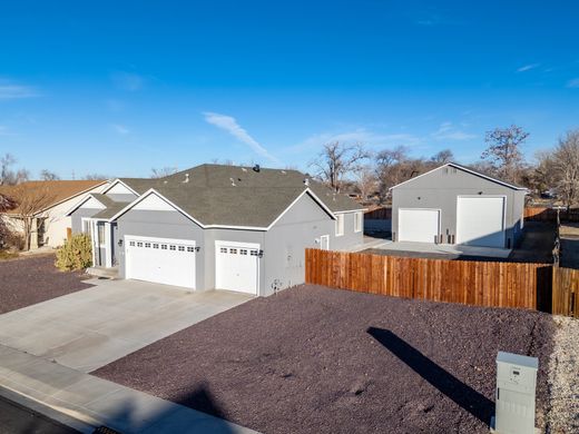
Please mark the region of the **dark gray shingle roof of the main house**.
POLYGON ((150 188, 204 225, 266 227, 306 188, 333 213, 363 209, 346 195, 297 170, 202 165, 159 179, 121 178, 143 194, 150 188))

